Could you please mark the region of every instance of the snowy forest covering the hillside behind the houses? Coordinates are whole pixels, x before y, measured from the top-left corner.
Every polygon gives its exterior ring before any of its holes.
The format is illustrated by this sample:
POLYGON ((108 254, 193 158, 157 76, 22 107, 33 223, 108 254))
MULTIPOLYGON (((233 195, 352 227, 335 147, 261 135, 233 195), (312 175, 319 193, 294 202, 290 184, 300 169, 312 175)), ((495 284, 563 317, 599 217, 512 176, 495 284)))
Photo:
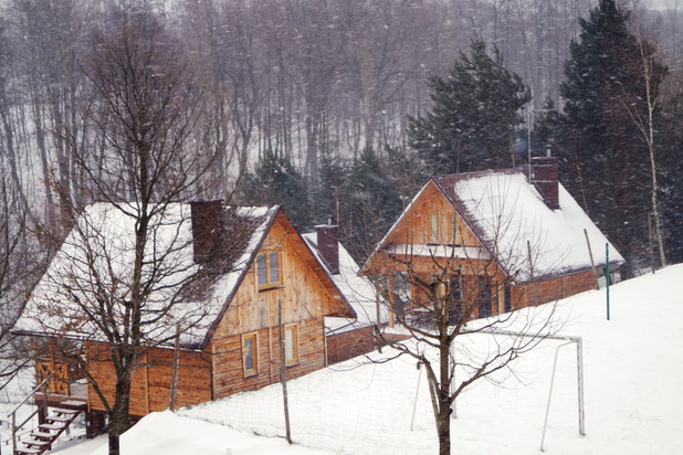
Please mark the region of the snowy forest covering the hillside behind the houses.
MULTIPOLYGON (((105 178, 98 166, 112 151, 106 125, 91 116, 98 98, 87 59, 93 35, 112 27, 109 3, 7 0, 0 9, 3 194, 33 225, 69 224, 65 214, 102 200, 90 177, 105 178)), ((281 203, 302 231, 333 220, 360 257, 428 176, 525 162, 532 137, 535 155, 549 148, 560 157, 563 182, 633 265, 650 263, 656 247, 649 232, 660 225, 665 254, 683 255, 676 0, 658 9, 593 0, 124 3, 154 12, 172 41, 169 57, 201 85, 188 154, 212 159, 196 197, 281 203), (611 23, 591 15, 602 3, 620 4, 611 23), (600 38, 610 33, 622 39, 600 38), (656 64, 652 140, 633 118, 648 110, 649 96, 638 43, 656 64), (588 72, 575 64, 601 65, 600 74, 581 81, 588 72), (586 106, 616 77, 618 89, 586 106), (504 83, 516 84, 514 96, 504 83), (467 112, 484 102, 465 96, 437 125, 434 108, 448 104, 448 91, 486 93, 495 115, 467 112), (449 129, 462 119, 472 121, 449 129), (455 146, 435 141, 435 131, 458 138, 462 161, 441 159, 455 146), (654 228, 650 149, 662 212, 654 228)))

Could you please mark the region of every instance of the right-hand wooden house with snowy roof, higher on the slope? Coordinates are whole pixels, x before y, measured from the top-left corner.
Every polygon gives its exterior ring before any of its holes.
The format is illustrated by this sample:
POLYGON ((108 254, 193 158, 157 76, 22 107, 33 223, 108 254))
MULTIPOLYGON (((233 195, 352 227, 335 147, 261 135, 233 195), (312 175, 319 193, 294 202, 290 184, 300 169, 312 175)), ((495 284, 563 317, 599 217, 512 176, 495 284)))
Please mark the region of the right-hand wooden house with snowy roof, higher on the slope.
MULTIPOLYGON (((387 283, 392 314, 424 303, 416 282, 443 286, 446 273, 454 299, 476 293, 474 316, 490 317, 596 288, 606 243, 559 183, 557 158, 544 157, 430 178, 360 273, 387 283)), ((623 257, 610 250, 614 269, 623 257)))

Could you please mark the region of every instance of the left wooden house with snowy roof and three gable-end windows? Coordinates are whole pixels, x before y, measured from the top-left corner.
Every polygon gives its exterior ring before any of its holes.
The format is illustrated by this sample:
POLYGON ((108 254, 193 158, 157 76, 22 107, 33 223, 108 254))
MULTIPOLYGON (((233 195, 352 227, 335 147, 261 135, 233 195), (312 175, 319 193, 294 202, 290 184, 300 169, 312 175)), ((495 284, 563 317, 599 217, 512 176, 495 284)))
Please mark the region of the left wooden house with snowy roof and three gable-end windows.
MULTIPOLYGON (((176 406, 197 404, 280 381, 279 303, 282 304, 287 378, 324 368, 327 364, 325 318, 356 318, 356 314, 283 210, 279 207, 227 207, 221 202, 178 205, 178 212, 185 211, 189 215, 178 222, 171 220, 166 225, 176 233, 180 232, 176 236, 182 236, 182 232, 187 234, 190 261, 198 266, 223 254, 221 248, 225 240, 235 235, 235 223, 243 222, 241 231, 244 233, 244 226, 248 231, 238 242, 238 254, 233 252, 229 263, 222 264, 223 273, 211 275, 200 292, 193 294, 195 299, 207 301, 209 311, 202 325, 180 338, 176 406)), ((116 224, 107 219, 107 204, 94 204, 88 210, 91 214, 99 214, 103 225, 116 224)), ((112 229, 109 235, 116 235, 115 231, 112 229)), ((71 236, 65 245, 72 242, 71 236)), ((71 266, 57 266, 61 253, 50 268, 71 266)), ((87 370, 107 400, 113 402, 115 374, 108 345, 93 331, 86 331, 85 326, 60 327, 53 315, 45 314, 42 301, 60 292, 57 278, 54 278, 60 273, 51 274, 49 269, 45 275, 45 283, 39 284, 17 326, 18 332, 35 339, 50 339, 53 345, 80 343, 87 370)), ((64 274, 61 276, 63 279, 64 274)), ((55 301, 63 305, 61 320, 69 319, 63 317, 64 314, 69 316, 69 311, 78 310, 72 308, 66 298, 57 300, 52 297, 50 305, 54 306, 55 301)), ((172 330, 172 326, 169 329, 172 330)), ((169 406, 174 355, 172 342, 145 350, 133 375, 133 416, 144 416, 169 406)), ((60 371, 59 380, 56 377, 51 380, 51 392, 55 396, 69 398, 73 378, 64 373, 59 356, 45 357, 36 362, 39 382, 49 370, 60 371)), ((96 417, 104 415, 105 406, 91 383, 83 400, 87 403, 91 420, 97 421, 96 417)))

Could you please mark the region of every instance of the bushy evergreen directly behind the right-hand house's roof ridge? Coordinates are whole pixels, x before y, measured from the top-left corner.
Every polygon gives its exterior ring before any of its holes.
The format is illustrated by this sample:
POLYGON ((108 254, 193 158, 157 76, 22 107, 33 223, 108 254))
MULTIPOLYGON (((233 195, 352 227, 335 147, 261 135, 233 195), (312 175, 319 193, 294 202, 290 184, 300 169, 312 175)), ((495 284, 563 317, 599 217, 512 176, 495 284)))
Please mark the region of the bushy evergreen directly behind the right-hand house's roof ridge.
POLYGON ((432 110, 409 118, 411 146, 431 172, 463 172, 514 163, 513 128, 530 99, 522 78, 505 68, 493 45, 473 41, 446 77, 430 75, 432 110))

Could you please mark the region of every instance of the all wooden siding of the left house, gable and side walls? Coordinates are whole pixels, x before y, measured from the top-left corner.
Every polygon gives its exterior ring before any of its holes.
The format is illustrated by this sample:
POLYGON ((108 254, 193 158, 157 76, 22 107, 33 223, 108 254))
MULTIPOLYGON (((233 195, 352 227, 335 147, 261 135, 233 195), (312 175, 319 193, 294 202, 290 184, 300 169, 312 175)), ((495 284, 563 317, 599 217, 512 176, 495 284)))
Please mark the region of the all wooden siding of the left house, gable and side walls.
MULTIPOLYGON (((353 317, 334 283, 280 213, 258 253, 281 252, 282 284, 259 289, 256 261, 232 297, 211 341, 202 353, 182 352, 176 403, 197 404, 280 381, 277 303, 282 301, 283 324, 297 327, 298 362, 286 369, 288 378, 325 367, 327 315, 353 317), (258 337, 258 373, 244 377, 242 335, 258 337)), ((93 374, 108 400, 114 398, 114 368, 105 345, 88 348, 93 374)), ((140 359, 133 375, 130 413, 146 415, 168 408, 172 375, 172 350, 154 349, 140 359)), ((94 411, 104 410, 93 388, 88 399, 94 411)))

